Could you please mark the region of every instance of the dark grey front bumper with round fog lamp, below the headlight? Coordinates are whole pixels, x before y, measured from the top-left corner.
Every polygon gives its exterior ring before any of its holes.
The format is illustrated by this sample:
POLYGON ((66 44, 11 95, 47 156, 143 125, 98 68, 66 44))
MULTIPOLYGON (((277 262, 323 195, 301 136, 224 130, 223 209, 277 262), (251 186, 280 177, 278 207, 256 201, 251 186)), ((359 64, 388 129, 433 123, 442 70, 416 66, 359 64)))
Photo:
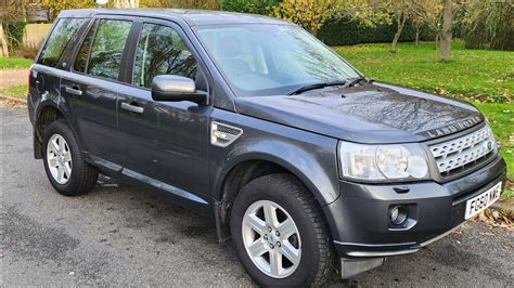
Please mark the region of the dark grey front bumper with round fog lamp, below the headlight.
POLYGON ((447 183, 340 181, 339 198, 323 207, 335 248, 344 258, 415 252, 464 223, 465 201, 504 182, 505 170, 505 161, 499 156, 481 169, 447 183), (389 208, 397 205, 409 208, 409 222, 401 228, 389 223, 389 208))

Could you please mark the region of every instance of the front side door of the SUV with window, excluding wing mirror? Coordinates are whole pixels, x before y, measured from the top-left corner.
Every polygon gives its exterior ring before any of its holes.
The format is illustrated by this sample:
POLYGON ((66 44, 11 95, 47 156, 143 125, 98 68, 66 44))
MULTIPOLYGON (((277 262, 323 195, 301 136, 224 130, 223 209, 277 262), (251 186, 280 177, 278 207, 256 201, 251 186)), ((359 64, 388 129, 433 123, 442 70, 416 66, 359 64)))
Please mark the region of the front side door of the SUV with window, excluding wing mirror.
MULTIPOLYGON (((119 92, 117 104, 118 128, 129 156, 124 171, 162 188, 169 184, 206 195, 211 106, 156 102, 150 90, 155 76, 180 75, 194 79, 197 90, 207 91, 206 69, 198 65, 198 56, 179 26, 151 19, 138 25, 141 29, 133 64, 129 65, 133 73, 127 79, 131 86, 119 92)), ((201 201, 190 194, 181 196, 201 201)))

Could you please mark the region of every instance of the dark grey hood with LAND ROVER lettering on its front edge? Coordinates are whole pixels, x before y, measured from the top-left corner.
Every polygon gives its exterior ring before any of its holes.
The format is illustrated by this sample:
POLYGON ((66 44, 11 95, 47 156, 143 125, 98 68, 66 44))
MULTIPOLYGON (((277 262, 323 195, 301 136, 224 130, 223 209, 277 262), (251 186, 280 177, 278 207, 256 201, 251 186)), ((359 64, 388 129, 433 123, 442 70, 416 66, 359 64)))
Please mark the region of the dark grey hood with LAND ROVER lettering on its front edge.
POLYGON ((484 121, 472 105, 373 82, 300 95, 237 97, 237 113, 359 143, 421 142, 484 121))

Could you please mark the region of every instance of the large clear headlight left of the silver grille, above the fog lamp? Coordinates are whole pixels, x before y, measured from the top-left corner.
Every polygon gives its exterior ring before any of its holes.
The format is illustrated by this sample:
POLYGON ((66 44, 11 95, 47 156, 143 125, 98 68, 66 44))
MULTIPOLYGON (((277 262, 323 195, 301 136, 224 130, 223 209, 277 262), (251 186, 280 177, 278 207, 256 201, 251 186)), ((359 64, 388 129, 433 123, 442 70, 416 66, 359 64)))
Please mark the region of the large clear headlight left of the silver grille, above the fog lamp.
POLYGON ((342 141, 338 149, 343 178, 375 182, 431 178, 420 144, 367 145, 342 141))

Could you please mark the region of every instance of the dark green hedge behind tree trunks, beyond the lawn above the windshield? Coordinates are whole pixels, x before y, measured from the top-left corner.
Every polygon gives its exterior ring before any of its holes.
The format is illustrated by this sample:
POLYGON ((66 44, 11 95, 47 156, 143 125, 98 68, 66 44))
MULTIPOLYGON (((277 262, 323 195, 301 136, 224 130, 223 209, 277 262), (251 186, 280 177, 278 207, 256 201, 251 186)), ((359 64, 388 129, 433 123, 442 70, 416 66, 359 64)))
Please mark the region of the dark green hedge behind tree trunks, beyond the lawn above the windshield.
MULTIPOLYGON (((327 45, 351 45, 359 43, 390 42, 396 34, 395 24, 381 24, 374 27, 365 26, 357 21, 333 21, 326 22, 318 31, 318 38, 327 45)), ((434 32, 423 26, 420 30, 421 40, 434 40, 434 32)), ((415 27, 412 23, 406 23, 401 32, 400 42, 412 42, 415 40, 415 27)))

